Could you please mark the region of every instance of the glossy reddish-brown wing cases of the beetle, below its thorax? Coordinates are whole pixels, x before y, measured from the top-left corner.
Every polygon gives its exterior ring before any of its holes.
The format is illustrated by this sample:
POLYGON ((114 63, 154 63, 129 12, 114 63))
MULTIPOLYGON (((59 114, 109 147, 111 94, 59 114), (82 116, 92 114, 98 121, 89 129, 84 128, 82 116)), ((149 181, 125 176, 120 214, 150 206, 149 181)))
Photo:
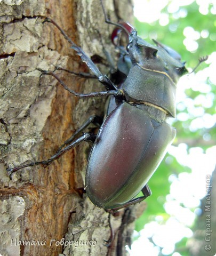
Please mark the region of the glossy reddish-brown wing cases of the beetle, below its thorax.
POLYGON ((155 122, 145 109, 126 102, 119 105, 101 126, 91 150, 86 171, 91 201, 105 209, 131 201, 157 169, 174 136, 175 129, 155 122))

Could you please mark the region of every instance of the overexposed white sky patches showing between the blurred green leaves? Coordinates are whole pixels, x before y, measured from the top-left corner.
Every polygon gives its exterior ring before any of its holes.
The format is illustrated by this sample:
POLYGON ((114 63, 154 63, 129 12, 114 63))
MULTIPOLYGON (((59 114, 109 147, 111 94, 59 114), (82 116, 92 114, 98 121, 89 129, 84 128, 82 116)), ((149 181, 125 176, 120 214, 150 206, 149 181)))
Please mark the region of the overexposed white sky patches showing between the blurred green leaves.
MULTIPOLYGON (((187 11, 179 10, 180 6, 189 5, 195 0, 134 0, 134 15, 141 22, 154 22, 159 20, 162 26, 167 25, 169 18, 167 14, 161 14, 161 10, 167 3, 169 4, 168 11, 175 13, 179 17, 186 17, 187 11)), ((209 4, 213 7, 211 12, 216 14, 215 0, 197 0, 199 12, 203 15, 209 12, 209 4)), ((196 40, 199 37, 207 38, 209 32, 207 30, 195 31, 192 27, 186 27, 183 30, 185 44, 188 51, 195 51, 198 47, 196 40)), ((211 86, 206 84, 206 78, 216 84, 216 52, 213 52, 207 62, 209 67, 198 71, 196 74, 186 75, 180 79, 177 91, 177 108, 179 110, 187 109, 186 113, 178 114, 177 118, 180 121, 186 121, 190 115, 195 116, 190 124, 190 130, 196 131, 201 128, 210 128, 216 123, 216 114, 205 114, 203 107, 211 107, 213 104, 214 95, 211 92, 211 86), (186 97, 185 90, 191 88, 195 91, 206 93, 205 96, 200 94, 195 99, 186 97), (197 107, 200 106, 200 107, 197 107)), ((206 135, 204 140, 211 138, 206 135)), ((193 224, 196 214, 199 213, 200 199, 206 193, 206 174, 211 174, 216 164, 216 146, 210 147, 206 152, 202 148, 195 147, 187 153, 187 145, 181 143, 178 147, 171 146, 169 153, 173 155, 177 161, 183 166, 188 166, 191 173, 182 172, 181 174, 171 175, 169 180, 172 182, 170 195, 166 198, 164 205, 165 210, 172 217, 165 222, 164 225, 159 225, 163 221, 162 216, 157 216, 155 221, 151 221, 145 228, 140 231, 140 237, 132 244, 131 256, 143 256, 143 252, 147 256, 157 256, 159 247, 154 246, 149 238, 153 239, 154 243, 163 247, 163 254, 172 254, 175 243, 179 242, 183 237, 191 237, 193 235, 190 226, 193 224), (187 187, 187 191, 186 188, 187 187), (185 206, 185 207, 182 207, 185 206), (195 213, 190 209, 196 209, 195 213)), ((169 159, 167 159, 169 161, 169 159)), ((138 234, 135 234, 138 235, 138 234)), ((181 256, 174 252, 172 256, 181 256)))

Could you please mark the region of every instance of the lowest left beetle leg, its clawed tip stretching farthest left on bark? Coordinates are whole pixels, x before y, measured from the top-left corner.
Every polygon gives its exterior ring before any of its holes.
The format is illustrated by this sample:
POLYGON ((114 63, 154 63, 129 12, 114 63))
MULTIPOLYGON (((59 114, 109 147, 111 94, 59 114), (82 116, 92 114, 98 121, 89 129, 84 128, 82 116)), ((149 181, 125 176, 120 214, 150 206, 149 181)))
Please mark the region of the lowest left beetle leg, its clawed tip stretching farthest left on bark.
POLYGON ((70 145, 68 145, 67 147, 65 147, 62 150, 58 151, 56 154, 51 156, 51 158, 49 158, 49 159, 47 159, 45 161, 32 162, 32 163, 29 163, 29 164, 19 165, 19 166, 15 166, 15 167, 13 167, 11 169, 7 169, 7 172, 9 173, 9 177, 10 177, 10 179, 12 179, 12 174, 14 172, 16 172, 16 171, 18 171, 18 170, 20 170, 22 168, 28 167, 28 166, 33 166, 33 165, 49 165, 55 159, 58 159, 59 157, 61 157, 63 154, 65 154, 71 148, 75 148, 82 141, 94 141, 95 137, 96 137, 95 134, 84 133, 81 137, 79 137, 78 139, 76 139, 75 141, 70 143, 70 145))

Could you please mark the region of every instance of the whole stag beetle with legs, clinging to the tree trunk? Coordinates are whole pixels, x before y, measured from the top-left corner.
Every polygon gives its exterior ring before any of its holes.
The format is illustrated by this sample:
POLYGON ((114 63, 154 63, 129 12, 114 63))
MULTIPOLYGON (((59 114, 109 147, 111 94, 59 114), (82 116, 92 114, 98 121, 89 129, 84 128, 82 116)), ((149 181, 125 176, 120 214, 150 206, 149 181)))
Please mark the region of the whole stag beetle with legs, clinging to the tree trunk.
MULTIPOLYGON (((156 41, 156 45, 147 43, 127 23, 111 22, 104 7, 103 12, 106 22, 117 27, 112 35, 112 41, 121 53, 117 66, 118 77, 121 79, 117 86, 112 79, 101 74, 93 61, 53 20, 45 20, 59 28, 61 34, 70 42, 71 48, 106 86, 107 91, 79 94, 70 90, 54 73, 45 71, 44 74, 57 78, 66 90, 79 98, 111 95, 107 117, 98 134, 84 133, 75 140, 71 137, 64 144, 69 145, 61 148, 47 161, 7 170, 11 175, 23 167, 47 165, 82 141, 93 141, 86 169, 86 193, 98 207, 117 210, 141 202, 151 194, 147 182, 175 137, 175 129, 166 123, 166 119, 175 117, 177 81, 187 70, 180 55, 170 47, 156 41), (128 38, 126 49, 115 43, 119 31, 128 38), (135 198, 140 191, 143 196, 135 198)), ((89 119, 78 132, 91 122, 89 119)))

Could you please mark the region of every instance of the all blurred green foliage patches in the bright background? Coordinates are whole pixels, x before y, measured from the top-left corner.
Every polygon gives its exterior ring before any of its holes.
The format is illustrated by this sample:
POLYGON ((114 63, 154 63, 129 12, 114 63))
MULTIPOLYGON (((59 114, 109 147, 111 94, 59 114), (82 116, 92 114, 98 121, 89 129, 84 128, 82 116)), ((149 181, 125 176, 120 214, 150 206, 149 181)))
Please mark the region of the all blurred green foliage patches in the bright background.
MULTIPOLYGON (((205 55, 210 55, 215 51, 216 42, 216 19, 215 15, 210 12, 211 4, 209 5, 209 13, 203 15, 199 12, 199 5, 197 2, 193 2, 187 6, 180 6, 178 12, 169 13, 167 6, 162 10, 169 16, 169 24, 166 26, 159 25, 159 20, 155 21, 153 24, 141 23, 137 19, 135 20, 134 27, 138 30, 138 35, 145 39, 146 41, 152 43, 149 38, 154 38, 156 41, 172 47, 178 53, 180 53, 182 60, 187 61, 186 67, 193 69, 198 62, 198 59, 205 55), (186 13, 184 18, 178 18, 178 13, 186 13), (186 46, 183 44, 186 38, 183 31, 186 27, 192 27, 195 31, 201 33, 206 31, 208 36, 206 38, 200 37, 196 39, 198 43, 198 48, 196 51, 189 52, 186 46)), ((180 16, 180 15, 179 15, 180 16)), ((209 64, 201 63, 201 65, 196 70, 203 70, 209 67, 209 64)), ((191 74, 189 76, 193 76, 191 74)), ((212 127, 197 127, 197 129, 191 129, 191 122, 194 122, 196 118, 201 118, 203 114, 209 114, 211 116, 216 113, 216 86, 211 82, 209 77, 206 77, 205 83, 211 86, 209 91, 202 89, 200 87, 191 86, 185 91, 186 99, 193 99, 193 107, 202 108, 200 115, 194 116, 190 113, 185 102, 179 102, 179 108, 177 106, 177 117, 179 113, 185 113, 188 117, 182 122, 180 120, 174 119, 172 125, 177 129, 177 138, 174 140, 174 145, 178 146, 179 143, 186 143, 188 145, 188 151, 191 147, 201 147, 204 151, 216 144, 216 129, 215 124, 212 127), (211 95, 210 95, 211 94, 211 95), (196 103, 197 97, 210 97, 212 100, 211 106, 205 106, 201 103, 196 103), (206 139, 207 138, 207 139, 206 139)), ((198 121, 198 119, 197 119, 198 121)), ((148 185, 153 191, 153 195, 146 199, 147 210, 143 215, 137 220, 135 230, 140 231, 143 226, 155 220, 157 215, 163 216, 163 221, 166 221, 170 215, 164 210, 164 203, 166 200, 166 195, 170 191, 169 177, 171 174, 175 173, 178 175, 180 172, 190 172, 190 169, 186 166, 180 165, 173 156, 166 155, 162 164, 158 167, 156 173, 149 180, 148 185), (169 161, 166 161, 169 159, 169 161)), ((187 239, 183 238, 177 244, 177 247, 186 248, 187 239)), ((178 250, 177 250, 178 251, 178 250)), ((187 251, 187 250, 186 250, 187 251)), ((162 255, 162 254, 160 254, 162 255)), ((182 252, 182 255, 188 255, 188 252, 182 252)))

